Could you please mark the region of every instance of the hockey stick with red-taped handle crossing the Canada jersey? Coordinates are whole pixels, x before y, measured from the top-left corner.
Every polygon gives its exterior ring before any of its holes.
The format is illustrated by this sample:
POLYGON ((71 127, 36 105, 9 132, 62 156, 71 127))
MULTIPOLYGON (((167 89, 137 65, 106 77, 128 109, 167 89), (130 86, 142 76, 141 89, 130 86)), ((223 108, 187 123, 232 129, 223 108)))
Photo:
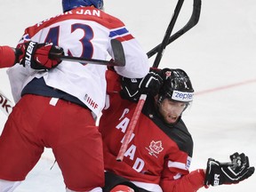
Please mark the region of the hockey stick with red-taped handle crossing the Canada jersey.
MULTIPOLYGON (((168 28, 164 34, 164 39, 163 39, 163 42, 161 44, 161 47, 158 49, 158 54, 156 57, 157 60, 155 60, 154 64, 156 63, 156 65, 158 66, 162 56, 163 56, 163 52, 164 52, 164 49, 167 45, 167 41, 169 39, 169 36, 171 36, 171 33, 172 33, 172 28, 174 27, 174 24, 175 24, 175 21, 177 20, 178 18, 178 15, 180 13, 180 8, 183 4, 184 0, 179 0, 176 7, 175 7, 175 10, 174 10, 174 14, 172 16, 172 20, 170 21, 169 25, 168 25, 168 28)), ((156 66, 156 67, 157 67, 156 66)), ((154 65, 153 65, 154 67, 154 65)), ((135 111, 132 115, 132 119, 131 119, 131 122, 130 124, 128 125, 127 127, 127 130, 125 132, 125 135, 124 135, 124 141, 121 145, 121 148, 119 149, 119 152, 118 152, 118 155, 116 156, 116 161, 123 161, 124 159, 124 153, 125 151, 127 150, 127 147, 128 147, 128 144, 132 138, 132 132, 134 131, 134 128, 135 128, 135 125, 137 124, 137 121, 139 119, 139 116, 140 116, 140 113, 141 113, 141 110, 144 106, 144 103, 145 103, 145 100, 147 99, 147 94, 141 94, 140 95, 140 100, 135 108, 135 111)))

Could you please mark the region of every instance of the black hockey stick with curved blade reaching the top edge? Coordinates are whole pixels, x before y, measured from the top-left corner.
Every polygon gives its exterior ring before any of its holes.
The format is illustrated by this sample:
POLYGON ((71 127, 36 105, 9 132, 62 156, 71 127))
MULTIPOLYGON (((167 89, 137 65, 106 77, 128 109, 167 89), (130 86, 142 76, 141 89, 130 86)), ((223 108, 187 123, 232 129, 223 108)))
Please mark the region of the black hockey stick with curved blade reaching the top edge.
MULTIPOLYGON (((172 36, 169 37, 167 45, 171 44, 177 38, 179 38, 180 36, 185 34, 189 29, 196 26, 196 24, 198 23, 198 20, 200 18, 200 12, 201 12, 201 0, 194 0, 193 12, 191 14, 190 19, 188 20, 188 23, 183 28, 180 28, 180 30, 177 31, 175 34, 173 34, 172 36)), ((156 47, 154 47, 152 50, 150 50, 147 53, 148 58, 155 55, 156 52, 158 52, 158 50, 160 49, 160 47, 161 47, 161 44, 158 44, 156 47)))

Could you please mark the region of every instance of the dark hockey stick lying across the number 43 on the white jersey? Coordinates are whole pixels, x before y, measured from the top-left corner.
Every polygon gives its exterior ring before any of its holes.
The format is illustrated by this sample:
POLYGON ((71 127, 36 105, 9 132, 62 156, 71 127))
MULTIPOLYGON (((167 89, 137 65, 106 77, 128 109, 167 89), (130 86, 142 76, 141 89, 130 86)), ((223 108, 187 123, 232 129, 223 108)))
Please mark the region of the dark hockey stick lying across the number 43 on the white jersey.
POLYGON ((50 52, 49 57, 51 58, 59 58, 60 60, 69 60, 69 61, 76 61, 82 64, 92 63, 97 65, 108 65, 108 66, 125 66, 125 57, 124 57, 124 49, 121 44, 116 39, 111 39, 111 46, 114 53, 114 60, 94 60, 89 58, 80 58, 80 57, 73 57, 73 56, 65 56, 65 55, 56 55, 50 52))

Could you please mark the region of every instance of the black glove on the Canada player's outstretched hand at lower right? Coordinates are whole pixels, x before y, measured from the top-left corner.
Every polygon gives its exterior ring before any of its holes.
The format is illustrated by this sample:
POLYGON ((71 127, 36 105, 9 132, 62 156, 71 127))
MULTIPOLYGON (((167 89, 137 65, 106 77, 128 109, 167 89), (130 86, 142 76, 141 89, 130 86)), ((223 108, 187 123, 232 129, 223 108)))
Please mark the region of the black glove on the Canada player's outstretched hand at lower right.
POLYGON ((220 163, 209 158, 204 185, 209 187, 210 185, 236 184, 249 178, 254 172, 254 167, 250 167, 248 156, 244 153, 235 153, 230 156, 230 160, 229 163, 220 163))

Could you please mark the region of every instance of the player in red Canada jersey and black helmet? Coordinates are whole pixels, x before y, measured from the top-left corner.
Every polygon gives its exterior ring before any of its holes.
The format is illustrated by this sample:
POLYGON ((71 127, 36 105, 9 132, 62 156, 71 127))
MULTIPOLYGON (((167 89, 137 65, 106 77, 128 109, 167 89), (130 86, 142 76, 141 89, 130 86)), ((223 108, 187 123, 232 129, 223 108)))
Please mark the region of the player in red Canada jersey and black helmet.
POLYGON ((164 68, 142 80, 122 77, 122 86, 115 83, 119 77, 113 71, 108 76, 108 101, 100 118, 107 171, 103 191, 116 192, 115 187, 126 185, 135 192, 194 192, 204 186, 238 183, 252 175, 254 167, 243 153, 230 156, 228 164, 209 158, 206 170, 189 172, 193 140, 181 115, 192 102, 194 90, 185 71, 164 68), (117 162, 140 93, 147 93, 148 98, 124 160, 117 162))

